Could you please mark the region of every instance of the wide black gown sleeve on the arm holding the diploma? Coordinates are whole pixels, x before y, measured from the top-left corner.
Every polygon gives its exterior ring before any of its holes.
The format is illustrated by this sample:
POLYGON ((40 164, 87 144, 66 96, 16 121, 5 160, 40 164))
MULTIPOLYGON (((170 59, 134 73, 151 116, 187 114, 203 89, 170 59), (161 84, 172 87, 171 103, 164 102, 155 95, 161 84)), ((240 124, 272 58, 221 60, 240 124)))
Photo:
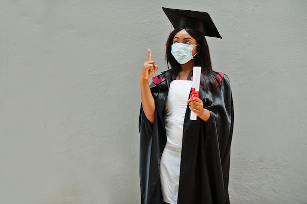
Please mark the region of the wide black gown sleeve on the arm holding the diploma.
MULTIPOLYGON (((205 108, 210 111, 206 123, 205 149, 211 182, 215 189, 223 189, 224 202, 229 203, 228 183, 230 169, 230 144, 233 132, 233 102, 230 83, 223 78, 215 92, 206 95, 205 108)), ((219 203, 219 202, 218 202, 219 203)))

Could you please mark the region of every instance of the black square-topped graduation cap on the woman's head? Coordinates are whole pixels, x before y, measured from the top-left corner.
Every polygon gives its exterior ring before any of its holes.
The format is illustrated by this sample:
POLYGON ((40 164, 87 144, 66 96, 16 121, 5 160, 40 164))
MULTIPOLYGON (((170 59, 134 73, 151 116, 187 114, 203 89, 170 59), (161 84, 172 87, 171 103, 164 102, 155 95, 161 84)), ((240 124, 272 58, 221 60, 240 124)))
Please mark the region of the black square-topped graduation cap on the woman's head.
POLYGON ((205 36, 222 38, 207 12, 180 10, 164 7, 162 7, 162 9, 174 28, 190 27, 198 30, 205 36))

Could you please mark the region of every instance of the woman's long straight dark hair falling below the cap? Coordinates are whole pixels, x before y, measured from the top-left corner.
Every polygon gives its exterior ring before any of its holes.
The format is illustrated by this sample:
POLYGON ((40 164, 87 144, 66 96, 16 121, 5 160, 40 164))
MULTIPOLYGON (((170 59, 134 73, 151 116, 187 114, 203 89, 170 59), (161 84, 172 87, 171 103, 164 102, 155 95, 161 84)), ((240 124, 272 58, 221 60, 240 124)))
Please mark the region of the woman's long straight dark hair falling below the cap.
MULTIPOLYGON (((197 46, 198 48, 197 51, 199 53, 194 57, 195 58, 194 65, 202 67, 200 87, 205 91, 216 90, 217 82, 219 83, 219 79, 217 78, 217 75, 213 72, 211 67, 209 47, 207 41, 205 40, 205 36, 202 33, 188 27, 179 27, 173 30, 173 32, 171 32, 171 34, 169 35, 169 38, 166 43, 165 58, 168 69, 170 69, 171 67, 171 75, 173 80, 176 79, 176 77, 179 74, 180 64, 176 61, 176 59, 172 55, 171 49, 175 35, 182 29, 185 29, 185 31, 189 33, 199 44, 197 46)), ((188 76, 189 80, 191 80, 192 74, 193 72, 189 74, 188 76)))

